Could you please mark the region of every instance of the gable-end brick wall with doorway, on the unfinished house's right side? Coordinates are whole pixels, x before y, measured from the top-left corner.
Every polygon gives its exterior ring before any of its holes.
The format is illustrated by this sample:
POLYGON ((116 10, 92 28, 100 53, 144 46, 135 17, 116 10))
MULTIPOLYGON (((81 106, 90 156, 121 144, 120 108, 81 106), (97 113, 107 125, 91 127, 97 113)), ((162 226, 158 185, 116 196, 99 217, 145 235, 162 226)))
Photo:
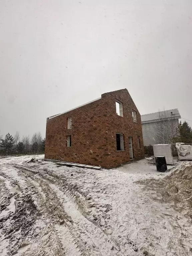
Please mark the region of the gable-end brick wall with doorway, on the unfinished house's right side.
POLYGON ((141 116, 135 106, 127 89, 118 90, 102 95, 107 104, 107 130, 108 130, 108 162, 109 167, 126 163, 129 158, 129 136, 133 141, 134 158, 141 159, 144 157, 143 135, 141 116), (123 104, 123 117, 116 114, 115 102, 123 104), (132 120, 132 110, 136 112, 137 122, 132 120), (117 151, 116 133, 124 135, 124 151, 117 151), (138 147, 137 136, 140 136, 140 148, 138 147))

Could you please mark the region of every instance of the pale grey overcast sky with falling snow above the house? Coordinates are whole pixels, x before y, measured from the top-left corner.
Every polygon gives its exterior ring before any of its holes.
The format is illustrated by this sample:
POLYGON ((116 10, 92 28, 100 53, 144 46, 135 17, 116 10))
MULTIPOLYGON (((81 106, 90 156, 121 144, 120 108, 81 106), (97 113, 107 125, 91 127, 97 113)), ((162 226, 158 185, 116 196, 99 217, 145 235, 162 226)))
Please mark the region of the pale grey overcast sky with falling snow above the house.
POLYGON ((192 120, 191 0, 2 0, 0 35, 3 135, 123 88, 192 120))

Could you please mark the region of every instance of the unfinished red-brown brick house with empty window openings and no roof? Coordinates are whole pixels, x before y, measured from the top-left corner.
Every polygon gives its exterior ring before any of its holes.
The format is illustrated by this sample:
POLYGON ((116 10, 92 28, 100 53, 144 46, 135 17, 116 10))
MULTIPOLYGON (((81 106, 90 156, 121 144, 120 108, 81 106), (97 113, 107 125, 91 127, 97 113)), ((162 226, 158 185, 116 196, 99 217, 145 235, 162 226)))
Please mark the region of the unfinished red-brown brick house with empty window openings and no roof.
POLYGON ((47 118, 45 159, 109 169, 143 157, 141 116, 127 89, 47 118))

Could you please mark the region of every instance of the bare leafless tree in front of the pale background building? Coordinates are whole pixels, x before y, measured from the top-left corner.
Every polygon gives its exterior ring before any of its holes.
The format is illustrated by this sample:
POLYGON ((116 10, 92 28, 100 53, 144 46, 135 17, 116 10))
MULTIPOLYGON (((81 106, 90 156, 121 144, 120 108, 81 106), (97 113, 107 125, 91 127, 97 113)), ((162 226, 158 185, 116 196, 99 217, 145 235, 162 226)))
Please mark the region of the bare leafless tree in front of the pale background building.
POLYGON ((160 144, 169 144, 171 139, 178 133, 175 118, 168 111, 158 112, 158 121, 156 122, 156 141, 160 144))

